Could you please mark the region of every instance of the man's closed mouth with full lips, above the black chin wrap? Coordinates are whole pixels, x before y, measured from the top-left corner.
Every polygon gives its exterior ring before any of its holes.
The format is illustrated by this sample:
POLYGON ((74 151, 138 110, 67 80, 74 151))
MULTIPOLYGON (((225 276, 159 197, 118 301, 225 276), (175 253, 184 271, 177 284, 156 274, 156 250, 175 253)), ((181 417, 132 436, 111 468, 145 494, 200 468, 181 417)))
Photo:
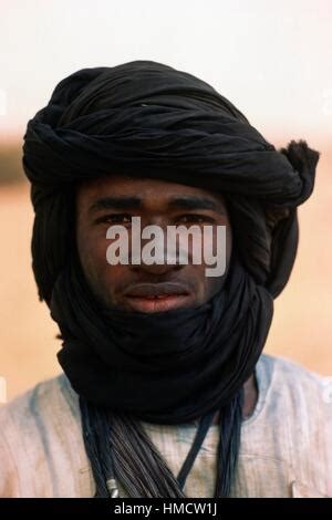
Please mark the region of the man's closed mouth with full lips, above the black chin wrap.
POLYGON ((165 312, 188 304, 189 291, 177 283, 141 283, 125 293, 129 308, 139 312, 165 312))

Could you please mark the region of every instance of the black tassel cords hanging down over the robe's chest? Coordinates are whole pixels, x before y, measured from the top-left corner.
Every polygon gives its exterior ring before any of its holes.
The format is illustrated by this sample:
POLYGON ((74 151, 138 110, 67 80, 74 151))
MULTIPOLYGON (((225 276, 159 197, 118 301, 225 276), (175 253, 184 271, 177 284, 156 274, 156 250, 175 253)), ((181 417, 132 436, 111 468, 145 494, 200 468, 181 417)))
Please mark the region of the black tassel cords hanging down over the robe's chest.
MULTIPOLYGON (((219 414, 220 438, 215 497, 228 497, 240 446, 242 391, 219 414)), ((132 498, 184 498, 183 488, 211 424, 203 417, 191 449, 176 479, 139 422, 111 414, 80 398, 83 437, 95 497, 118 497, 116 480, 132 498)))

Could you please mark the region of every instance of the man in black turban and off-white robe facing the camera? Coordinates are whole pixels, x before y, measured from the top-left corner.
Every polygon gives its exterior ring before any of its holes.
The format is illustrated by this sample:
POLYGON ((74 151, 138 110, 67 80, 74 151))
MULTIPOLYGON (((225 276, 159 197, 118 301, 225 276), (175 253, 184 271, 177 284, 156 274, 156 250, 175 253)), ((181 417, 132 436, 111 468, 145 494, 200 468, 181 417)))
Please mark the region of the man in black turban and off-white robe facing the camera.
POLYGON ((212 87, 163 64, 58 85, 23 165, 63 374, 1 409, 1 496, 332 495, 329 379, 261 354, 318 159, 304 142, 277 152, 212 87), (113 262, 112 227, 133 239, 138 217, 145 231, 209 227, 203 248, 225 229, 224 271, 194 262, 195 233, 187 263, 183 236, 175 254, 159 239, 163 262, 134 261, 133 240, 129 262, 113 262))

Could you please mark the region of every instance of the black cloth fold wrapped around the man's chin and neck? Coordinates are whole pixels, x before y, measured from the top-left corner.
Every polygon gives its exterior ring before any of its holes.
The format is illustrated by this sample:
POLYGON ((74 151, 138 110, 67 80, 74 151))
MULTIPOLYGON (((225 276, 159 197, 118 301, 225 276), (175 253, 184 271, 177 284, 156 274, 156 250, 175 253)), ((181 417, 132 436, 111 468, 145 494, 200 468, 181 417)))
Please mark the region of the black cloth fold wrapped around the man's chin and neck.
POLYGON ((158 424, 194 420, 225 406, 252 373, 273 300, 234 260, 227 287, 195 309, 145 314, 92 304, 80 267, 53 291, 59 361, 96 406, 158 424))

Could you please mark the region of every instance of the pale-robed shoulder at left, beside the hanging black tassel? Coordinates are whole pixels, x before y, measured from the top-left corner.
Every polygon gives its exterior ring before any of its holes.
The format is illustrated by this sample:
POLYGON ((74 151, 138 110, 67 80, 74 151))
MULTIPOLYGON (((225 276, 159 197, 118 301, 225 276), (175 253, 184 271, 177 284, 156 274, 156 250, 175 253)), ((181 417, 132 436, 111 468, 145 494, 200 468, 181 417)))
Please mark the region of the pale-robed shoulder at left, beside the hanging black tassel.
POLYGON ((80 434, 79 399, 64 374, 1 406, 0 497, 52 496, 52 472, 69 470, 80 434))

